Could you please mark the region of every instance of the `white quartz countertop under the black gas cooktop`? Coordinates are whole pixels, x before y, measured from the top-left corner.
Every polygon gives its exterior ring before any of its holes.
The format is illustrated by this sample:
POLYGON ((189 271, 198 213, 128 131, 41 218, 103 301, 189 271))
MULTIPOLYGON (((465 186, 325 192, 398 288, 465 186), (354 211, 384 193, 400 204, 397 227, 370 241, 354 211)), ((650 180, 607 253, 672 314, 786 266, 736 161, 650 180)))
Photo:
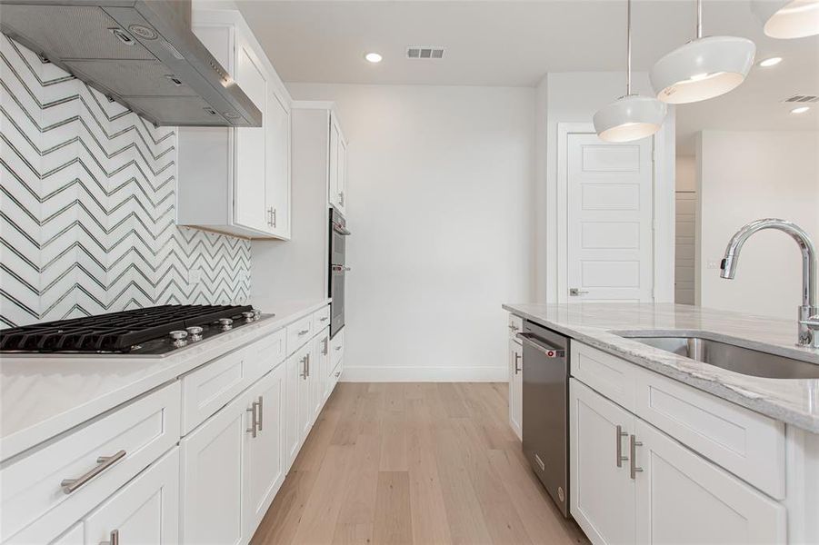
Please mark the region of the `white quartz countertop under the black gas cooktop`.
POLYGON ((275 316, 160 358, 83 354, 0 357, 0 460, 173 381, 329 302, 263 304, 257 308, 275 316))

